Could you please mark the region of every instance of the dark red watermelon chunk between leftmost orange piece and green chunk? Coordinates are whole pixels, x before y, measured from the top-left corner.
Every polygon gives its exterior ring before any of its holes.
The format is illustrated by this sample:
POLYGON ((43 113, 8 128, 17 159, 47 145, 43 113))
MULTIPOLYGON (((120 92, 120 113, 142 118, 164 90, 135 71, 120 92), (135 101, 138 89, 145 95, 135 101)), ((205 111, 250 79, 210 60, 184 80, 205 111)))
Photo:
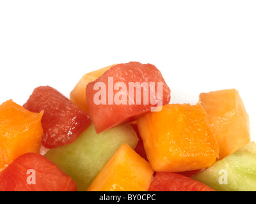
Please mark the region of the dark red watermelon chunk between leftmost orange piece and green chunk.
POLYGON ((49 149, 74 142, 92 123, 87 113, 49 86, 37 87, 24 108, 31 112, 44 110, 42 144, 49 149))

